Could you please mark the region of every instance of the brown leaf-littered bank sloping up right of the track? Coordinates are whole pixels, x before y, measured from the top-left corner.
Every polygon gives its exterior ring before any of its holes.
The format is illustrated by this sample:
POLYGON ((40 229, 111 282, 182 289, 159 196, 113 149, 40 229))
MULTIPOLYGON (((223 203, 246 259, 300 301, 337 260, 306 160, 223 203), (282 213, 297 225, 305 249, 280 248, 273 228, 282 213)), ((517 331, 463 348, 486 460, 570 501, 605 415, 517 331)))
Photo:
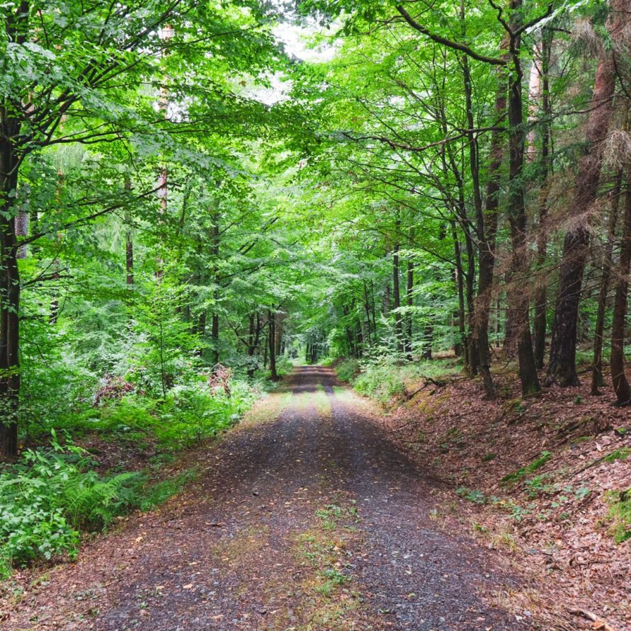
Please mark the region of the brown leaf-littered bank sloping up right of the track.
POLYGON ((525 588, 505 608, 549 629, 631 630, 631 409, 590 394, 589 376, 522 399, 504 370, 493 401, 479 379, 416 379, 375 418, 455 491, 433 518, 512 559, 525 588))

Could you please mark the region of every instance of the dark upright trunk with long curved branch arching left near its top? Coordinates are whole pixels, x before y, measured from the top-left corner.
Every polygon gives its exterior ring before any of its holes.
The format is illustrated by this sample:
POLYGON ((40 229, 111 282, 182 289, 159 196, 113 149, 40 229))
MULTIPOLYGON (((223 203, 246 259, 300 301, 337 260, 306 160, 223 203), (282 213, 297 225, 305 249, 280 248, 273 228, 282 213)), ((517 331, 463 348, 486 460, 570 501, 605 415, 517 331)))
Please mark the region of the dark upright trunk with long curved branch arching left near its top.
POLYGON ((511 0, 511 41, 512 72, 508 82, 508 147, 509 160, 509 195, 508 222, 511 227, 511 312, 516 330, 517 352, 519 360, 519 378, 523 396, 535 394, 541 390, 533 354, 533 341, 530 336, 530 297, 523 284, 528 278, 528 251, 526 242, 525 183, 523 181, 524 132, 522 106, 522 79, 520 59, 520 36, 522 0, 511 0), (516 285, 519 283, 519 286, 516 285))

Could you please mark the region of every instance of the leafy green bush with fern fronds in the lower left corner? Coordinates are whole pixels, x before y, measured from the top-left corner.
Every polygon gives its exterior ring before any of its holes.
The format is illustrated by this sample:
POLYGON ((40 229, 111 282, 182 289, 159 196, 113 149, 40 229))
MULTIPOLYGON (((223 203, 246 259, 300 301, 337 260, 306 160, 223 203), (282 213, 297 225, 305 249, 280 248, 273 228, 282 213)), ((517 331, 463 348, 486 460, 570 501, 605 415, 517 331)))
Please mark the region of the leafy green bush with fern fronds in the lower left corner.
POLYGON ((92 461, 74 445, 26 451, 0 475, 0 573, 11 564, 76 556, 81 528, 102 529, 127 510, 139 474, 99 477, 92 461))

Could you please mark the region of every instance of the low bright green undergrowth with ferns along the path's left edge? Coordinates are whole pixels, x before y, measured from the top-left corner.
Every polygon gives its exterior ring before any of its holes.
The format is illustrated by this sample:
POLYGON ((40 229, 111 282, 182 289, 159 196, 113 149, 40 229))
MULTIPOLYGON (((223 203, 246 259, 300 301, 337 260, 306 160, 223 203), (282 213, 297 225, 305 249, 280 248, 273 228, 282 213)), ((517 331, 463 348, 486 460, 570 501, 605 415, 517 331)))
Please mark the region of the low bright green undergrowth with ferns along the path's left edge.
POLYGON ((180 492, 195 470, 165 479, 164 462, 236 423, 263 389, 238 379, 213 389, 199 379, 157 398, 119 387, 122 381, 115 384, 120 396, 84 401, 55 421, 30 423, 22 439, 38 446, 0 469, 0 578, 12 567, 74 558, 81 533, 106 530, 116 517, 152 510, 180 492), (76 444, 93 435, 103 449, 110 443, 154 453, 152 467, 99 474, 94 456, 76 444))

